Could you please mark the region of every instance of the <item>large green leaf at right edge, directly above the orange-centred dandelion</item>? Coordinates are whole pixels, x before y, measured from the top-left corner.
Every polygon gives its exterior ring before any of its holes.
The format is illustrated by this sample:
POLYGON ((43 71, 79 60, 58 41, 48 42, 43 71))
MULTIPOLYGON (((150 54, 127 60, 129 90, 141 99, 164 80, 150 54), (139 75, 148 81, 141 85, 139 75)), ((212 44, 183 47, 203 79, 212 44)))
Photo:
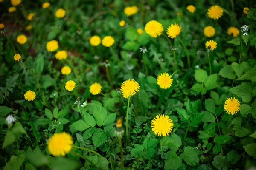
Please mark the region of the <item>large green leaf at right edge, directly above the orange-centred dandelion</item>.
POLYGON ((249 103, 252 100, 254 85, 250 82, 244 82, 241 85, 233 87, 230 91, 243 99, 244 103, 249 103))

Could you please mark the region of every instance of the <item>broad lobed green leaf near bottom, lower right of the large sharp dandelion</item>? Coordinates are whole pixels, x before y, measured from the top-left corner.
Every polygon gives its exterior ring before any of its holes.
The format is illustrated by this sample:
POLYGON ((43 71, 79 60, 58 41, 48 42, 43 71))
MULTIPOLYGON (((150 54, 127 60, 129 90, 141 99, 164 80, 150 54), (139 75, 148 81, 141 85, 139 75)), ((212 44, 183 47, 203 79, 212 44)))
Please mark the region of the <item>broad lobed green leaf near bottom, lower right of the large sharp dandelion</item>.
POLYGON ((180 154, 180 158, 190 166, 195 166, 199 163, 199 153, 200 151, 195 147, 186 146, 184 152, 180 154))

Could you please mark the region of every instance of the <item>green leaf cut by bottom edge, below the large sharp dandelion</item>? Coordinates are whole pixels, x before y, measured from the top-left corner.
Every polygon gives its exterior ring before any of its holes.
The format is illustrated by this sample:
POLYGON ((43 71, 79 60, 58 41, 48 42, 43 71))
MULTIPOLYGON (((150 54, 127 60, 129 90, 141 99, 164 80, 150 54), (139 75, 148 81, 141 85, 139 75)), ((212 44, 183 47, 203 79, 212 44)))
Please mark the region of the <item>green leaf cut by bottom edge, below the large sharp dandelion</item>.
POLYGON ((182 164, 180 156, 173 151, 167 152, 167 159, 164 162, 165 170, 177 170, 182 164))

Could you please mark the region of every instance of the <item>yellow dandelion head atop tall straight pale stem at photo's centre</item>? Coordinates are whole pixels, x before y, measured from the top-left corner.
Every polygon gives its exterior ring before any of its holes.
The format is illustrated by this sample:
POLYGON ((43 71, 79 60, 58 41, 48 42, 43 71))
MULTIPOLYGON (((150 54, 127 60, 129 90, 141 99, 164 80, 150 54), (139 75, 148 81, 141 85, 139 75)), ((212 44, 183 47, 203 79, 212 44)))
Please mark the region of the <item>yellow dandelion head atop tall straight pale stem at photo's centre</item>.
POLYGON ((140 85, 138 82, 134 81, 133 79, 125 80, 121 84, 121 91, 124 98, 128 98, 136 94, 140 89, 140 85))

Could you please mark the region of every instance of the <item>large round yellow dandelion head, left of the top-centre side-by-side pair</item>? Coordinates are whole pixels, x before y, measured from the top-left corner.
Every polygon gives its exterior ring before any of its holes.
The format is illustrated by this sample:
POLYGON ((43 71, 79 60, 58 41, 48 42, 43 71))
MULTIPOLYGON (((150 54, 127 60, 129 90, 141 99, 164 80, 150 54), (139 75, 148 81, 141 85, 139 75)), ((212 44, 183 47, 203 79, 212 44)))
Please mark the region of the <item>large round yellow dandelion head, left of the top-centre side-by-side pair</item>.
POLYGON ((163 33, 163 26, 161 23, 152 20, 146 23, 145 32, 150 35, 151 37, 156 38, 163 33))

